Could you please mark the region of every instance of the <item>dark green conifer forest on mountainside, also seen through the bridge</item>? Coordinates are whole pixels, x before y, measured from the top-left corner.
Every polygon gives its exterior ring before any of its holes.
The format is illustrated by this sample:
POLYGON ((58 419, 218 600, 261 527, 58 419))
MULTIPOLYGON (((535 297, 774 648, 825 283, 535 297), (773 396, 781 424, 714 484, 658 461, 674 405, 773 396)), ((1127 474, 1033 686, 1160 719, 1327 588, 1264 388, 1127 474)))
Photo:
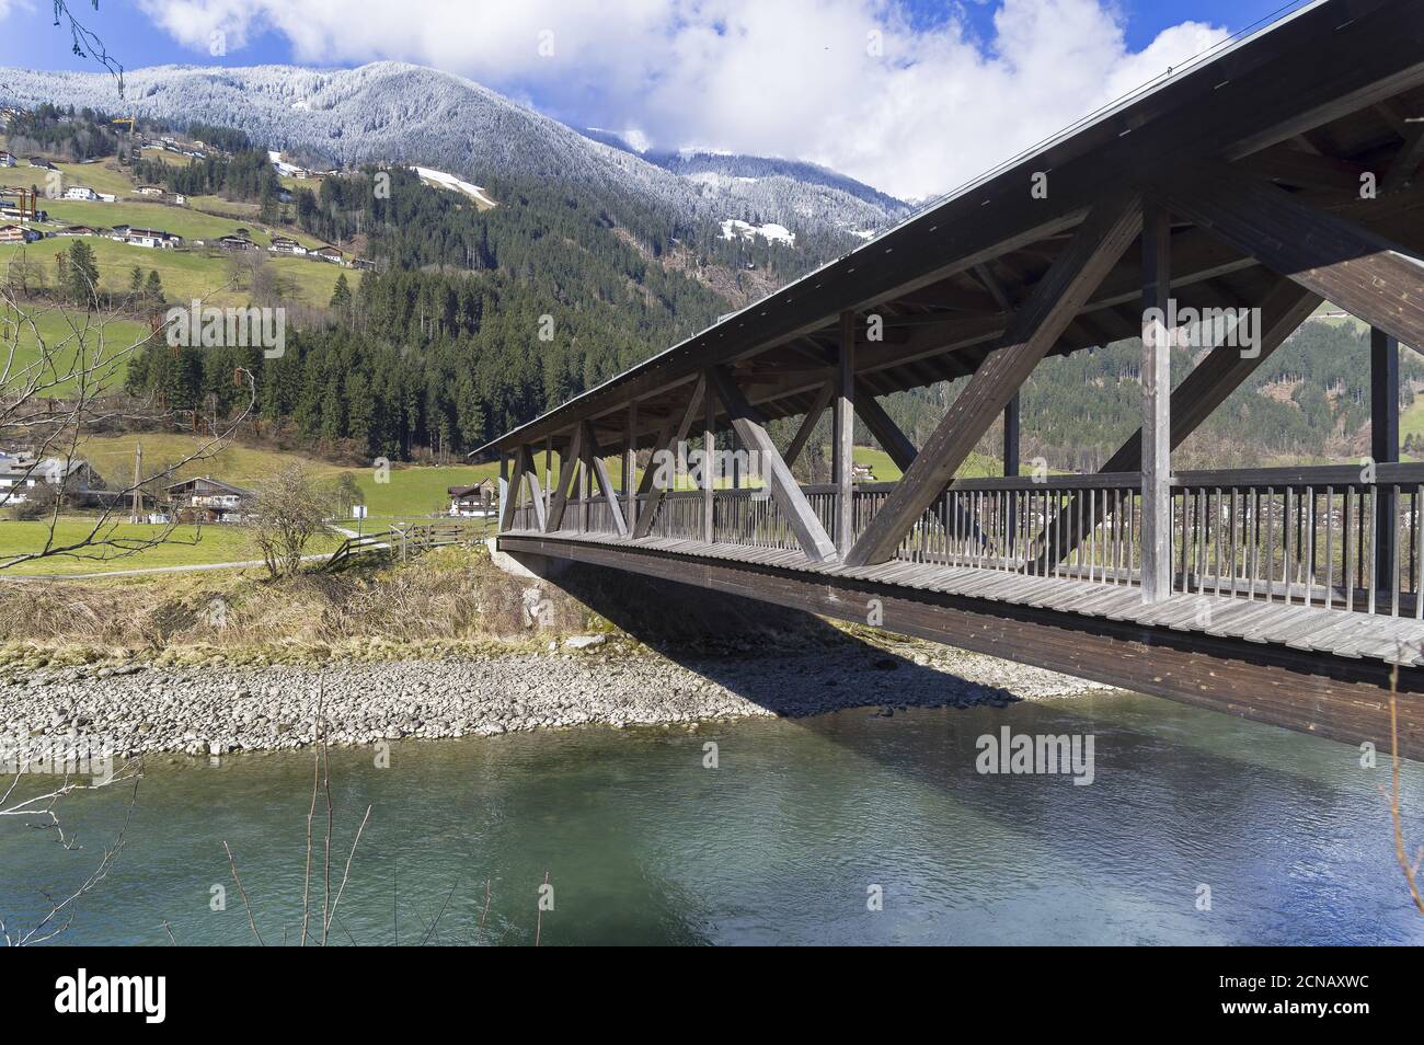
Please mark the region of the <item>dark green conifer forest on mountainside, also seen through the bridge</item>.
MULTIPOLYGON (((152 169, 191 191, 271 199, 261 148, 187 169, 152 169), (199 185, 199 179, 206 179, 199 185), (231 181, 231 185, 229 185, 231 181)), ((261 416, 303 440, 352 454, 410 460, 468 451, 708 326, 733 303, 702 271, 793 279, 846 243, 726 241, 642 199, 557 179, 487 187, 480 209, 403 168, 363 168, 300 188, 283 209, 303 231, 357 243, 377 265, 339 288, 325 322, 289 330, 281 359, 238 349, 150 349, 134 392, 169 407, 228 407, 235 366, 258 376, 261 416), (377 191, 377 185, 382 185, 377 191), (669 263, 676 258, 676 265, 669 263)), ((1126 340, 1045 360, 1022 394, 1025 458, 1092 470, 1141 414, 1141 345, 1126 340)), ((1195 359, 1178 349, 1173 379, 1195 359)), ((1405 352, 1403 396, 1424 384, 1405 352)), ((887 409, 918 443, 963 384, 891 396, 887 409)), ((1363 448, 1368 345, 1353 325, 1309 322, 1265 360, 1182 448, 1185 464, 1329 458, 1363 448)), ((862 430, 859 440, 869 443, 862 430)), ((994 453, 993 437, 983 444, 994 453)))

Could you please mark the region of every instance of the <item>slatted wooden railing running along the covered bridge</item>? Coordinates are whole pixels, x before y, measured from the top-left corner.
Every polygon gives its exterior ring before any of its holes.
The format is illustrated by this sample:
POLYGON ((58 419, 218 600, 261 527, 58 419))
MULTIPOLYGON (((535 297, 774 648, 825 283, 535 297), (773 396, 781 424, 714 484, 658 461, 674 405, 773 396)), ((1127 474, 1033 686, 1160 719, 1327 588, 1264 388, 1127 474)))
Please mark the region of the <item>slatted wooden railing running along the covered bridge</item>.
MULTIPOLYGON (((860 484, 853 534, 864 531, 894 484, 860 484)), ((827 531, 836 488, 802 487, 827 531)), ((701 541, 699 490, 638 497, 655 505, 649 537, 701 541)), ((797 551, 778 503, 765 490, 718 490, 718 544, 797 551)), ((1424 618, 1424 464, 1323 466, 1179 471, 1172 484, 1172 579, 1178 592, 1284 605, 1424 618)), ((535 527, 515 510, 514 530, 535 527)), ((602 498, 571 500, 565 530, 617 534, 602 498)), ((896 558, 926 565, 1135 585, 1142 567, 1138 473, 968 478, 921 515, 896 558), (1071 524, 1064 525, 1068 520, 1071 524), (1081 535, 1079 540, 1074 540, 1081 535)))

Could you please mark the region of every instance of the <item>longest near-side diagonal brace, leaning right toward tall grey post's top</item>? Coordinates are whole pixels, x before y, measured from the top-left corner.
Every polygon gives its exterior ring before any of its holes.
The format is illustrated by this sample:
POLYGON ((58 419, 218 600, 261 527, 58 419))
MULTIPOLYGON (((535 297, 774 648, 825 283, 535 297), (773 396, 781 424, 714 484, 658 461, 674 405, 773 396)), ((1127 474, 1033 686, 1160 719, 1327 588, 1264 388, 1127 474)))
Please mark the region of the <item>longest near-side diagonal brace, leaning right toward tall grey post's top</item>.
POLYGON ((950 484, 975 443, 1058 342, 1141 228, 1142 205, 1135 195, 1106 201, 1088 214, 1014 312, 1001 347, 970 377, 910 470, 870 520, 846 557, 847 565, 884 562, 894 555, 910 527, 950 484))

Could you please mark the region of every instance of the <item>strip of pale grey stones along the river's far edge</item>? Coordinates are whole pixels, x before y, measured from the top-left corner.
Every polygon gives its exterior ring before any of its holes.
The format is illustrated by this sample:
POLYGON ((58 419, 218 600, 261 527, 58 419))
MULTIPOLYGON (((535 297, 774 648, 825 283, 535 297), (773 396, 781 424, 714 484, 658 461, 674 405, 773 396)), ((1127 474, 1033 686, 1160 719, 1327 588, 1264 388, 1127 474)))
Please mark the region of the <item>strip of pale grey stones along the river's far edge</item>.
POLYGON ((815 653, 672 659, 602 638, 547 653, 323 666, 40 668, 0 682, 7 740, 90 736, 115 755, 226 755, 300 747, 316 736, 493 736, 582 725, 805 716, 843 708, 1007 705, 1092 683, 944 646, 847 644, 815 653))

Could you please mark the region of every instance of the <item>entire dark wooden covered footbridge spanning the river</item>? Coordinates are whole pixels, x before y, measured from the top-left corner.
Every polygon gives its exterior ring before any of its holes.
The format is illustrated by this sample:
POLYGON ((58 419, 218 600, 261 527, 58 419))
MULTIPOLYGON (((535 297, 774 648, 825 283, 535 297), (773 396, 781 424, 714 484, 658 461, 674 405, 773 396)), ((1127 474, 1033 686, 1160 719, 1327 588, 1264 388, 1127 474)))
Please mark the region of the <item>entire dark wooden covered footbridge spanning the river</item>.
POLYGON ((1381 750, 1393 689, 1424 756, 1424 464, 1398 437, 1421 165, 1424 0, 1304 7, 483 447, 498 547, 1381 750), (1326 300, 1371 327, 1370 457, 1175 470, 1326 300), (1169 319, 1189 310, 1227 322, 1169 319), (1129 337, 1141 429, 1099 473, 1021 474, 1034 367, 1129 337), (943 382, 917 447, 879 397, 943 382), (797 483, 826 411, 832 483, 797 483), (1001 417, 1004 477, 958 477, 1001 417), (856 480, 857 423, 899 481, 856 480))

